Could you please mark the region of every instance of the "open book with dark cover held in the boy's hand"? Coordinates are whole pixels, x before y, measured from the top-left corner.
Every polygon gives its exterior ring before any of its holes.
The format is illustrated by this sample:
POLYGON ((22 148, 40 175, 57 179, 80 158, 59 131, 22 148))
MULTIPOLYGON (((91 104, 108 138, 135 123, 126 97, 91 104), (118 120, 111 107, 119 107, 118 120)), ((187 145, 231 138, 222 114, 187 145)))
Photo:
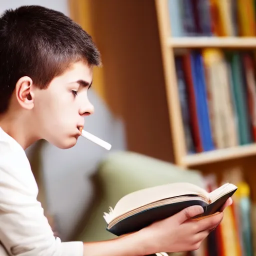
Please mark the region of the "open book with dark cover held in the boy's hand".
POLYGON ((204 212, 197 217, 207 216, 220 210, 237 187, 225 183, 208 193, 191 183, 170 183, 141 189, 123 196, 114 208, 104 212, 106 230, 122 235, 169 217, 191 205, 201 205, 204 212))

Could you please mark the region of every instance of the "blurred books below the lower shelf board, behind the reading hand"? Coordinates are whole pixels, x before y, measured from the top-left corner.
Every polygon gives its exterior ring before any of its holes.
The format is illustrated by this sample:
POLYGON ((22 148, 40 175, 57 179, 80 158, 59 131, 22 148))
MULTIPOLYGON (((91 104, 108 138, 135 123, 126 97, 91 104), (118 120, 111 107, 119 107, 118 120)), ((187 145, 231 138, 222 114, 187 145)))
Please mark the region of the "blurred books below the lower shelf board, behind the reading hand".
MULTIPOLYGON (((202 256, 255 255, 255 203, 250 198, 250 187, 240 168, 223 170, 222 173, 221 183, 229 180, 237 190, 232 196, 232 205, 224 211, 222 221, 206 238, 202 256)), ((220 185, 215 174, 206 175, 204 179, 208 192, 220 185)))

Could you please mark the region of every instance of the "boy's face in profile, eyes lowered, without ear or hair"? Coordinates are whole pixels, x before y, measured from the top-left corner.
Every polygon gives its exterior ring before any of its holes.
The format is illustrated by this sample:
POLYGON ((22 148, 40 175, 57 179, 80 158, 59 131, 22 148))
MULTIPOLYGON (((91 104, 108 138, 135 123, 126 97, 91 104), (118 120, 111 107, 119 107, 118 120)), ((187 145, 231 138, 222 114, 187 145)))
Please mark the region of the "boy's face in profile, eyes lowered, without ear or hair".
POLYGON ((84 116, 94 110, 87 97, 91 82, 92 67, 76 62, 47 89, 34 89, 32 111, 39 137, 59 148, 76 144, 84 116))

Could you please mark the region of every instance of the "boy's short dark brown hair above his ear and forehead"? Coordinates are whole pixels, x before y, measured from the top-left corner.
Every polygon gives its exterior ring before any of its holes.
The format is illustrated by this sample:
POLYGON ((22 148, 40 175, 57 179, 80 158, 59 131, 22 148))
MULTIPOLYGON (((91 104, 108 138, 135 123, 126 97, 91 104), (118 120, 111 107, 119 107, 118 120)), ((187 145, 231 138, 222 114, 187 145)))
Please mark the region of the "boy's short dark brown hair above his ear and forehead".
POLYGON ((0 113, 17 80, 27 75, 41 89, 70 64, 101 64, 91 36, 63 13, 38 5, 5 10, 0 17, 0 113))

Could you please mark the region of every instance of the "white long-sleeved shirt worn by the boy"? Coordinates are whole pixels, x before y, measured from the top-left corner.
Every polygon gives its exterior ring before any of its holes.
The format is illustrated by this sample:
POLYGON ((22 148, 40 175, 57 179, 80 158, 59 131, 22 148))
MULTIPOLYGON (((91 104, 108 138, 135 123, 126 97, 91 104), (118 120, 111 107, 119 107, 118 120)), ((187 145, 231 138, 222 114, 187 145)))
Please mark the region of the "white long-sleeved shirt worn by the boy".
POLYGON ((0 242, 11 256, 82 256, 82 242, 54 237, 37 193, 25 151, 0 128, 0 242))

